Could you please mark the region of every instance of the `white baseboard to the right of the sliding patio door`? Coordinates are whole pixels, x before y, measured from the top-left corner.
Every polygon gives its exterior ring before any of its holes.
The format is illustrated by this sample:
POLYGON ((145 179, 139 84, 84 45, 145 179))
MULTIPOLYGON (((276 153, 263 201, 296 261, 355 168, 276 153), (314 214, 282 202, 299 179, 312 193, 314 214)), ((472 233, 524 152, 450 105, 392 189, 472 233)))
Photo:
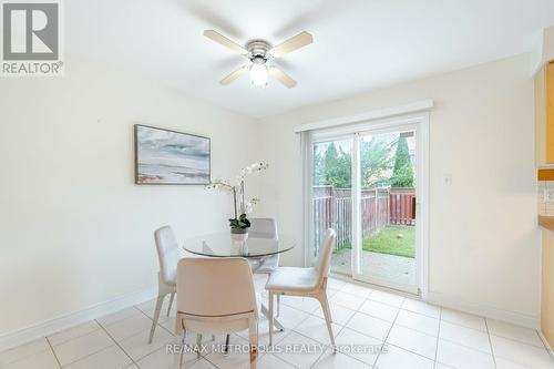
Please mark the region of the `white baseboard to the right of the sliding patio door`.
POLYGON ((471 304, 447 294, 428 291, 425 301, 464 312, 480 315, 485 318, 503 320, 532 329, 541 329, 541 318, 538 316, 531 316, 495 307, 471 304))

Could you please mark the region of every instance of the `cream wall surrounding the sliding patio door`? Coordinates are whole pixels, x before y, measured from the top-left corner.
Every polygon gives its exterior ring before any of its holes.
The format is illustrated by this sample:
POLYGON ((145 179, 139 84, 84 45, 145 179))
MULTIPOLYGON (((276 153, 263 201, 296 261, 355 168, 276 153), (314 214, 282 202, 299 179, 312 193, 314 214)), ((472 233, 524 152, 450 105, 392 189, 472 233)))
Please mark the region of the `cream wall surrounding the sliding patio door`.
MULTIPOLYGON (((261 212, 301 239, 297 124, 432 99, 429 290, 459 307, 538 317, 538 232, 529 55, 479 65, 263 120, 261 212), (447 187, 443 174, 452 174, 447 187)), ((340 78, 340 76, 337 76, 340 78)), ((300 264, 302 249, 284 255, 300 264)))

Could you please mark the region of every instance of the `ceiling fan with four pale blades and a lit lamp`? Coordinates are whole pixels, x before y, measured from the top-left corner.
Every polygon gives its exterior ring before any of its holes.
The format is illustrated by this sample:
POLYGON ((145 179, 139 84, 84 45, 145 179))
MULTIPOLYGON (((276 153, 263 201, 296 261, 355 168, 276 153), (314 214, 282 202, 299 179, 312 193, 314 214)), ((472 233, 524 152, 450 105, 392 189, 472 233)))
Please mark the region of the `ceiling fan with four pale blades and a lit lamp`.
POLYGON ((279 43, 276 47, 271 47, 269 42, 266 40, 250 40, 243 48, 235 41, 229 40, 225 35, 214 31, 206 30, 204 31, 204 35, 208 39, 223 44, 224 47, 230 49, 237 54, 244 55, 249 59, 250 64, 246 64, 225 76, 219 81, 220 84, 227 85, 237 80, 240 75, 246 72, 250 72, 250 82, 254 85, 265 88, 267 86, 267 78, 271 75, 277 79, 280 83, 283 83, 286 88, 293 89, 296 85, 296 81, 293 80, 288 74, 283 72, 276 65, 268 63, 268 61, 273 58, 280 58, 289 52, 304 48, 311 42, 314 42, 314 38, 310 33, 304 31, 298 33, 297 35, 279 43))

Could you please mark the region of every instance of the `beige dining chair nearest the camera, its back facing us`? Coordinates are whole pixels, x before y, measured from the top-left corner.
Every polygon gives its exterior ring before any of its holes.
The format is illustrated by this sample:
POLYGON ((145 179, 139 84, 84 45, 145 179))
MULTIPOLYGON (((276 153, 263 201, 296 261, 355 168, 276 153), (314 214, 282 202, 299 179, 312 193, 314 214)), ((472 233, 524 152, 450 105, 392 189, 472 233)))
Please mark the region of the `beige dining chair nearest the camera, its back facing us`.
MULTIPOLYGON (((176 334, 249 331, 249 362, 256 368, 258 353, 258 309, 254 281, 245 258, 183 258, 177 266, 176 334)), ((228 344, 228 342, 227 342, 228 344)), ((179 368, 183 363, 181 350, 179 368)), ((199 351, 197 351, 199 357, 199 351)))

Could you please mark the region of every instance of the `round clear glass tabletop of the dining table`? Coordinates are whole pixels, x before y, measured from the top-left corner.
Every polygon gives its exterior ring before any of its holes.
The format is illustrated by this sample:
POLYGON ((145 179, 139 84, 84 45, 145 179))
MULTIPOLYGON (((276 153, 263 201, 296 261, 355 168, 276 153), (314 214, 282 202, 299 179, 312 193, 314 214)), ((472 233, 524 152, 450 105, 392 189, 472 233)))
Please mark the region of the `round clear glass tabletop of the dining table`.
POLYGON ((192 254, 212 257, 261 257, 280 254, 293 249, 293 237, 279 235, 279 239, 261 238, 248 235, 246 240, 238 240, 229 232, 213 233, 184 242, 183 248, 192 254))

